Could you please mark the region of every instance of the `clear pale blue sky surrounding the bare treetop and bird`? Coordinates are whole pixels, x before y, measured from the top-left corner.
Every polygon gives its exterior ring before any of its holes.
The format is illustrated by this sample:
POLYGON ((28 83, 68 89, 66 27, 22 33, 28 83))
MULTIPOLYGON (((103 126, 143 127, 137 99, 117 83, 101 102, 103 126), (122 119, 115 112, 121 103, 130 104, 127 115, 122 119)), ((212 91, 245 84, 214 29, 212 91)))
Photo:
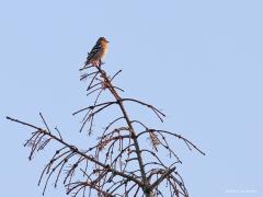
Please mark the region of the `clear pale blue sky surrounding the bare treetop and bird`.
POLYGON ((4 117, 41 125, 42 112, 77 140, 71 113, 87 105, 78 69, 105 36, 105 68, 123 69, 125 94, 162 108, 168 117, 153 126, 206 152, 179 150, 190 195, 262 197, 262 0, 0 1, 0 196, 42 196, 49 155, 28 162, 27 130, 4 117))

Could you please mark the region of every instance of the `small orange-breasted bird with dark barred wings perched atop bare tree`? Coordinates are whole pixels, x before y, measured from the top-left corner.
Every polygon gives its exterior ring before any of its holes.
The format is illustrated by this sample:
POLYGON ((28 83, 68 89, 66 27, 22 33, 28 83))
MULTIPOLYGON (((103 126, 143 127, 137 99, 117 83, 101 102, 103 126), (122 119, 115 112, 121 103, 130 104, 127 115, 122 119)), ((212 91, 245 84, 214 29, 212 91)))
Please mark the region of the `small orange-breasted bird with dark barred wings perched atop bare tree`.
POLYGON ((104 58, 107 53, 107 43, 105 37, 100 37, 96 44, 93 46, 91 51, 88 54, 84 67, 92 65, 99 67, 101 65, 102 58, 104 58))

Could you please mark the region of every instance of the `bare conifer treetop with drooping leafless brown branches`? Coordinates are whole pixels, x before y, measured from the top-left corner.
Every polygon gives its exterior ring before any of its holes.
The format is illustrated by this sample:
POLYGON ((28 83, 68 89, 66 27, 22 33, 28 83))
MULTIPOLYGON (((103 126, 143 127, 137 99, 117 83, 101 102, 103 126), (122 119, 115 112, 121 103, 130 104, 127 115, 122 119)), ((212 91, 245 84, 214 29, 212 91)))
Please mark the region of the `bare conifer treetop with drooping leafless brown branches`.
MULTIPOLYGON (((83 114, 80 131, 87 130, 90 139, 94 132, 94 119, 101 114, 106 116, 110 111, 114 111, 116 117, 108 115, 111 120, 106 127, 95 131, 99 138, 94 146, 80 149, 78 144, 66 141, 57 128, 49 129, 42 114, 39 115, 44 123, 43 127, 7 117, 34 130, 24 144, 31 149, 30 160, 52 141, 59 146, 42 172, 38 185, 44 183, 43 195, 48 182, 53 179, 55 187, 62 182, 67 194, 72 196, 84 197, 96 194, 98 196, 187 197, 188 193, 176 169, 182 162, 174 151, 172 141, 182 140, 190 150, 194 149, 204 155, 205 153, 181 135, 151 128, 141 119, 132 119, 127 112, 127 104, 132 103, 146 107, 161 121, 164 114, 139 100, 122 97, 123 90, 113 84, 113 80, 122 70, 110 77, 102 67, 103 63, 99 67, 88 66, 80 69, 88 71, 81 76, 81 80, 88 81, 87 95, 93 99, 90 106, 73 113, 73 115, 83 114), (105 96, 106 93, 110 95, 105 96), (111 100, 101 102, 102 97, 104 100, 111 97, 111 100), (164 151, 169 155, 165 160, 162 159, 164 151)), ((100 121, 101 128, 103 124, 100 121)), ((91 140, 88 144, 91 144, 91 140)))

